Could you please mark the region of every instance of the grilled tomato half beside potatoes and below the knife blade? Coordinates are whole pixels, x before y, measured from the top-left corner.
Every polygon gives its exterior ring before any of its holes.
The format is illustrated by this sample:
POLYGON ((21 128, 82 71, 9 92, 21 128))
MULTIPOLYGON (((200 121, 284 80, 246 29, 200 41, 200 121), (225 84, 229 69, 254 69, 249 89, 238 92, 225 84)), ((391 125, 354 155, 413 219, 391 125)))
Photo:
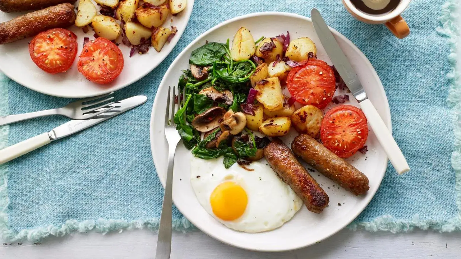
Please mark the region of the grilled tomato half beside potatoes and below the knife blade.
POLYGON ((311 58, 290 71, 287 87, 296 101, 323 109, 335 94, 335 74, 325 61, 311 58))

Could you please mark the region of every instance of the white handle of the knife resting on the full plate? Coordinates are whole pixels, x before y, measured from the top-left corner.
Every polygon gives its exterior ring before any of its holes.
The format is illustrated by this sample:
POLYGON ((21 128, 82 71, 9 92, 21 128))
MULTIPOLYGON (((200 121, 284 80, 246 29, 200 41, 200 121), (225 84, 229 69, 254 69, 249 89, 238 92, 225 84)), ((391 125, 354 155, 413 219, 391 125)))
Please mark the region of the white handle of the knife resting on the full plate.
POLYGON ((384 148, 390 163, 394 166, 399 175, 410 171, 407 160, 403 156, 402 151, 397 146, 396 141, 390 134, 389 129, 384 124, 383 119, 379 116, 375 107, 369 99, 360 102, 363 113, 365 113, 368 123, 372 126, 372 130, 378 138, 381 147, 384 148))

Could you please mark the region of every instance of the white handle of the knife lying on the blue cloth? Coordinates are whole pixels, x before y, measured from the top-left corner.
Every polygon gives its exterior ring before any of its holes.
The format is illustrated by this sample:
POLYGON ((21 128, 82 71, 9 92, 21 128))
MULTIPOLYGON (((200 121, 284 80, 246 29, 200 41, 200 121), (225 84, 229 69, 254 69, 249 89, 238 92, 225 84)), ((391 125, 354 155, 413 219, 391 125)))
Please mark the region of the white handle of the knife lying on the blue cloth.
POLYGON ((48 132, 0 150, 0 165, 51 143, 48 132))

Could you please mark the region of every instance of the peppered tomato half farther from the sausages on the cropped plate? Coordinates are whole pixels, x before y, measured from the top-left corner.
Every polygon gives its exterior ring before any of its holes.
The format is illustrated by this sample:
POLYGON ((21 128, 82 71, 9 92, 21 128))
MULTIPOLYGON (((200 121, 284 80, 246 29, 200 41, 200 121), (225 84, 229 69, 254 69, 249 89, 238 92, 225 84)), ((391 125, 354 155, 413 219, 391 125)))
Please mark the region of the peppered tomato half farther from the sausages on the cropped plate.
POLYGON ((120 75, 123 65, 123 54, 117 45, 99 37, 83 46, 77 67, 89 81, 105 84, 120 75))

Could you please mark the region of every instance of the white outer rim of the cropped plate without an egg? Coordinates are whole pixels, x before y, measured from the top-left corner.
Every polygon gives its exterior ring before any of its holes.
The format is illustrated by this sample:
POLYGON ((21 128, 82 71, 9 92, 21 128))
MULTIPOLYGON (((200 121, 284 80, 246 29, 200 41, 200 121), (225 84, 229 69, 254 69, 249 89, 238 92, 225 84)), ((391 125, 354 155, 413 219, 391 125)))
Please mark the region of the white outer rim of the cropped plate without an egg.
MULTIPOLYGON (((145 77, 148 73, 154 71, 154 69, 156 69, 168 56, 170 56, 171 52, 174 50, 174 48, 176 47, 177 43, 179 42, 179 40, 181 39, 181 36, 183 35, 184 31, 186 30, 187 28, 187 25, 189 24, 189 21, 190 21, 190 17, 192 16, 192 12, 194 10, 194 4, 195 4, 195 0, 187 0, 188 4, 191 6, 191 8, 188 9, 188 12, 186 12, 187 14, 187 21, 186 21, 186 24, 184 26, 184 29, 180 29, 178 30, 177 34, 178 35, 177 37, 173 38, 174 41, 173 41, 173 44, 174 46, 171 48, 170 52, 167 53, 163 58, 160 58, 160 59, 157 59, 157 60, 160 60, 160 62, 158 62, 157 65, 154 65, 154 67, 150 70, 150 71, 147 71, 146 73, 142 73, 142 74, 139 74, 137 77, 133 77, 132 80, 129 80, 128 82, 116 87, 116 88, 107 88, 107 89, 103 89, 100 93, 98 94, 81 94, 81 95, 67 95, 67 94, 52 94, 52 93, 49 93, 49 92, 46 92, 46 91, 42 91, 40 89, 34 89, 34 88, 30 88, 29 86, 19 82, 20 80, 17 80, 18 78, 16 79, 13 79, 11 77, 11 75, 9 75, 8 73, 6 73, 5 71, 3 71, 1 69, 1 66, 0 66, 0 72, 2 72, 6 77, 10 78, 12 81, 14 82, 17 82, 19 85, 25 87, 25 88, 29 88, 30 90, 32 91, 35 91, 35 92, 38 92, 38 93, 41 93, 41 94, 46 94, 46 95, 50 95, 50 96, 55 96, 55 97, 61 97, 61 98, 89 98, 89 97, 95 97, 95 96, 98 96, 98 95, 102 95, 102 94, 109 94, 109 93, 112 93, 112 92, 115 92, 115 91, 118 91, 120 89, 123 89, 127 86, 130 86, 131 84, 139 81, 140 79, 142 79, 143 77, 145 77)), ((74 26, 74 25, 72 25, 74 26)), ((78 27, 77 27, 78 28, 78 27)), ((77 57, 76 57, 77 59, 77 57)), ((75 62, 75 60, 74 60, 75 62)))

